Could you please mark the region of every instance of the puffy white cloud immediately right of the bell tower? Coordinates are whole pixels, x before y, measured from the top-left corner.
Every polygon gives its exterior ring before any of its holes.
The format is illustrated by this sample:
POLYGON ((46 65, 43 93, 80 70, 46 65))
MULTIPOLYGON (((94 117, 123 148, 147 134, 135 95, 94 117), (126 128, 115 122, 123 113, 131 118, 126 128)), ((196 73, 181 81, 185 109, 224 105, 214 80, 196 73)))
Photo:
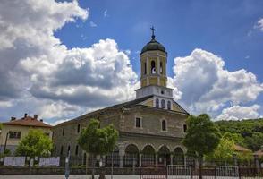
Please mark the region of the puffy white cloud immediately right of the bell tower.
POLYGON ((229 102, 254 101, 263 91, 253 73, 244 69, 229 72, 221 57, 205 50, 177 57, 174 64, 172 84, 177 98, 192 113, 213 113, 229 102))

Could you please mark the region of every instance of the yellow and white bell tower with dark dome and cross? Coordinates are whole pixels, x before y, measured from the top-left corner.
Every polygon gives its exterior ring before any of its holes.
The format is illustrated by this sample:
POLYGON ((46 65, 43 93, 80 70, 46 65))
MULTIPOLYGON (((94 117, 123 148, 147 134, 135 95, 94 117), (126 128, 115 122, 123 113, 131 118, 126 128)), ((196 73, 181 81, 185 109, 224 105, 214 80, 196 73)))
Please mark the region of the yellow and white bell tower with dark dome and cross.
POLYGON ((162 99, 173 99, 173 89, 167 88, 165 47, 157 42, 154 27, 151 28, 151 40, 140 52, 140 89, 136 90, 136 98, 153 95, 155 106, 162 99))

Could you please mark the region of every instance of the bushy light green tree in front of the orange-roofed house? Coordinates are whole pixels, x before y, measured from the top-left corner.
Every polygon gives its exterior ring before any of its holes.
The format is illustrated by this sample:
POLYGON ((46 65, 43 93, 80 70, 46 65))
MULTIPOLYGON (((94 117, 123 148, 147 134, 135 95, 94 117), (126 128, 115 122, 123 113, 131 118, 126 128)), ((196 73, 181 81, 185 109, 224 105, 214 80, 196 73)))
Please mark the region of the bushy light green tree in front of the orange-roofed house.
POLYGON ((17 156, 47 156, 51 153, 53 143, 41 130, 30 129, 28 135, 23 137, 15 150, 17 156))

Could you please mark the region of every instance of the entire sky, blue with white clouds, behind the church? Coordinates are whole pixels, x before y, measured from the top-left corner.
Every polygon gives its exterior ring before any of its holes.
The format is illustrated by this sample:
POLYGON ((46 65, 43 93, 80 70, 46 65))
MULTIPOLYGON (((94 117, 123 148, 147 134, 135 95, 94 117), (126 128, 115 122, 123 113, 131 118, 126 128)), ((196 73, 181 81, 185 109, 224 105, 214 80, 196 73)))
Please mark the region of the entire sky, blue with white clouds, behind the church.
POLYGON ((168 87, 189 113, 263 116, 263 1, 4 0, 0 122, 59 124, 135 98, 150 27, 168 53, 168 87))

